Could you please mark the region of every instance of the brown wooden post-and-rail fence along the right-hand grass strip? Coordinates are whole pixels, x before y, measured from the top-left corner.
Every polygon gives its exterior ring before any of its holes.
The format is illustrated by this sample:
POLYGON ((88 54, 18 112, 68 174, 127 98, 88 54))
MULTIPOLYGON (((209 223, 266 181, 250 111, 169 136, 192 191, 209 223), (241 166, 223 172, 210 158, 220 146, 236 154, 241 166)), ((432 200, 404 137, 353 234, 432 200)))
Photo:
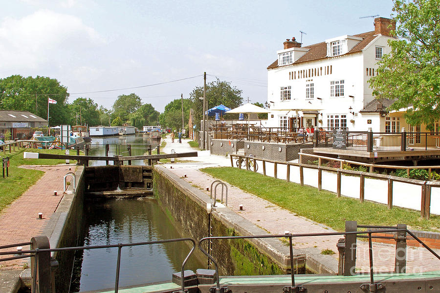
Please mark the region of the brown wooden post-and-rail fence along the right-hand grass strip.
MULTIPOLYGON (((379 179, 379 180, 386 180, 388 181, 388 198, 387 198, 387 206, 388 209, 393 208, 393 182, 402 182, 412 185, 418 185, 421 186, 421 202, 420 202, 420 216, 425 219, 429 219, 430 212, 431 212, 431 188, 432 187, 440 187, 440 182, 435 181, 425 181, 425 180, 417 180, 417 179, 410 179, 410 178, 403 178, 403 177, 397 177, 397 176, 391 176, 391 175, 383 175, 383 174, 376 174, 371 172, 362 172, 362 171, 355 171, 355 170, 346 170, 343 169, 344 163, 352 163, 352 164, 359 164, 359 165, 373 165, 373 164, 364 164, 354 161, 347 161, 347 160, 341 160, 336 158, 330 158, 330 157, 324 157, 324 156, 318 156, 318 155, 312 155, 312 154, 305 154, 305 153, 299 153, 300 160, 299 162, 302 162, 302 156, 308 156, 308 157, 317 157, 318 158, 318 166, 317 165, 309 165, 309 164, 303 164, 303 163, 292 163, 292 162, 283 162, 283 161, 275 161, 275 160, 267 160, 267 159, 257 159, 255 157, 250 156, 242 156, 242 155, 236 155, 236 154, 230 154, 231 159, 231 166, 234 167, 234 160, 233 158, 238 159, 239 161, 244 160, 246 169, 250 170, 253 165, 254 172, 257 171, 257 161, 261 161, 263 165, 263 175, 266 176, 266 163, 272 163, 274 164, 274 178, 277 178, 278 173, 278 165, 286 165, 286 181, 290 182, 290 166, 296 166, 299 167, 299 179, 301 186, 304 186, 304 168, 310 168, 310 169, 317 169, 318 170, 318 190, 322 190, 322 171, 330 171, 335 172, 337 174, 337 188, 336 188, 336 194, 338 197, 341 196, 341 178, 342 174, 351 175, 351 176, 359 176, 360 177, 360 186, 359 186, 359 200, 361 203, 364 202, 365 199, 365 177, 373 178, 373 179, 379 179), (340 167, 339 168, 333 168, 333 167, 326 167, 321 165, 321 161, 325 160, 333 160, 333 161, 339 161, 340 167), (253 161, 253 164, 250 164, 250 162, 253 161)), ((386 165, 374 165, 375 167, 382 167, 386 165)), ((241 168, 241 164, 238 164, 238 167, 241 168)), ((419 167, 401 167, 401 166, 386 166, 388 168, 420 168, 419 167)), ((425 167, 426 166, 421 166, 425 167)), ((440 166, 430 166, 429 168, 436 168, 440 166)))

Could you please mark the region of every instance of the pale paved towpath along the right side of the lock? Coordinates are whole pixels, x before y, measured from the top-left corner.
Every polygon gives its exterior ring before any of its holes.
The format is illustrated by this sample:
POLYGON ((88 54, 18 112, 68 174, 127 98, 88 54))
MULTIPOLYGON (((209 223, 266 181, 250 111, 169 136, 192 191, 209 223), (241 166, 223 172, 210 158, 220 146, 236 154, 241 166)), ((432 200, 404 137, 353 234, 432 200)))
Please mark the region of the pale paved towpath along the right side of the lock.
MULTIPOLYGON (((176 153, 194 151, 189 146, 188 139, 182 143, 171 143, 171 139, 166 138, 167 145, 163 151, 170 153, 174 149, 176 153)), ((204 188, 209 187, 213 180, 212 176, 199 171, 204 167, 227 166, 230 167, 231 161, 228 157, 209 155, 208 151, 199 151, 197 158, 178 159, 177 163, 165 164, 171 167, 176 175, 188 181, 192 185, 204 188), (187 162, 185 162, 187 161, 187 162), (184 174, 187 175, 184 178, 184 174)), ((205 191, 209 194, 208 191, 205 191)), ((285 231, 291 233, 319 233, 334 232, 330 227, 313 222, 307 218, 296 215, 286 209, 282 209, 264 199, 253 194, 247 193, 239 188, 228 185, 228 208, 236 211, 242 217, 251 221, 255 225, 263 228, 271 234, 284 234, 285 231), (243 205, 244 210, 239 209, 243 205)), ((325 211, 323 211, 325 212, 325 211)), ((361 224, 361 223, 360 223, 361 224)), ((309 253, 319 254, 322 250, 330 249, 337 252, 336 243, 341 236, 327 237, 302 237, 295 241, 295 248, 307 249, 309 253)), ((395 245, 373 243, 374 270, 378 272, 394 271, 395 245)), ((424 248, 408 247, 407 272, 429 272, 438 270, 440 260, 433 256, 424 248)), ((436 251, 440 253, 440 251, 436 251)), ((333 255, 336 259, 338 254, 333 255)), ((356 251, 356 270, 358 272, 369 272, 369 250, 368 243, 357 241, 356 251)))

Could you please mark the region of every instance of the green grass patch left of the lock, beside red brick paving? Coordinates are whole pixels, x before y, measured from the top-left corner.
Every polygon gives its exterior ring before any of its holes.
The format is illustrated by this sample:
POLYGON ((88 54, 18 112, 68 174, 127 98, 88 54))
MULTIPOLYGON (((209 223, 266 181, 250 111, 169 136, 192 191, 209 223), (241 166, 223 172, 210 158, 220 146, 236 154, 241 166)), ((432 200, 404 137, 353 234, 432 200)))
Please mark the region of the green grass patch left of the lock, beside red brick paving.
MULTIPOLYGON (((35 184, 44 174, 43 171, 23 169, 18 166, 57 165, 66 163, 66 160, 23 159, 24 151, 54 154, 65 153, 65 150, 59 149, 21 149, 20 151, 11 154, 6 152, 6 156, 1 153, 2 158, 9 156, 9 177, 3 178, 2 175, 0 175, 0 211, 20 197, 24 191, 35 184)), ((76 164, 76 161, 70 160, 70 163, 76 164)))

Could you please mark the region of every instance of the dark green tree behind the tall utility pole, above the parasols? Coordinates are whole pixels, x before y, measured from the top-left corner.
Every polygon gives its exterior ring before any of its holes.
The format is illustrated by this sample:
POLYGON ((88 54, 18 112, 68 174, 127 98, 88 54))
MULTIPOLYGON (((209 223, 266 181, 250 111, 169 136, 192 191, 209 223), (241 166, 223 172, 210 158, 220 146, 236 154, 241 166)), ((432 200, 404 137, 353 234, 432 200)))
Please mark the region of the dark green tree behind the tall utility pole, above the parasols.
MULTIPOLYGON (((203 100, 200 100, 200 97, 203 97, 203 86, 194 88, 190 93, 192 108, 194 109, 194 118, 198 125, 200 125, 200 120, 203 119, 203 100)), ((241 89, 238 89, 235 86, 232 87, 231 83, 220 81, 219 79, 206 84, 206 99, 208 102, 208 109, 220 104, 233 109, 242 105, 243 102, 241 89)))

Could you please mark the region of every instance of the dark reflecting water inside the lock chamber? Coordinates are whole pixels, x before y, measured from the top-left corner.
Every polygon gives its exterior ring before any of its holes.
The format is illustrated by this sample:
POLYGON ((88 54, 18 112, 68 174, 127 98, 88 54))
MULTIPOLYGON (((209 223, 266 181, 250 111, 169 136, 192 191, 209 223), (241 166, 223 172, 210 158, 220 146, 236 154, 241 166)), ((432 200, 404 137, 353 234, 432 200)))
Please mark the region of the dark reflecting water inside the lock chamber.
MULTIPOLYGON (((80 245, 109 245, 180 238, 182 235, 152 198, 88 202, 84 211, 84 239, 80 245)), ((186 243, 134 246, 122 249, 119 286, 170 280, 190 251, 186 243)), ((112 288, 117 248, 77 254, 71 292, 112 288), (82 262, 81 262, 82 259, 82 262)), ((191 257, 185 269, 204 268, 191 257)))

